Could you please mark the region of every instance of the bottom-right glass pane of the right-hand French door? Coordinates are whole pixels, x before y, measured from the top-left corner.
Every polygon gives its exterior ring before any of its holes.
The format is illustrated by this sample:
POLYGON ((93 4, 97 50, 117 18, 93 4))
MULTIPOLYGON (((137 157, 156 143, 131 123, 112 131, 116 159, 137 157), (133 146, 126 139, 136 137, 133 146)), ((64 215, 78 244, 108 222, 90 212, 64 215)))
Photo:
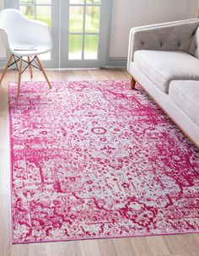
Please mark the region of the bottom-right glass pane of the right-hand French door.
POLYGON ((84 59, 98 58, 99 35, 85 35, 84 59))

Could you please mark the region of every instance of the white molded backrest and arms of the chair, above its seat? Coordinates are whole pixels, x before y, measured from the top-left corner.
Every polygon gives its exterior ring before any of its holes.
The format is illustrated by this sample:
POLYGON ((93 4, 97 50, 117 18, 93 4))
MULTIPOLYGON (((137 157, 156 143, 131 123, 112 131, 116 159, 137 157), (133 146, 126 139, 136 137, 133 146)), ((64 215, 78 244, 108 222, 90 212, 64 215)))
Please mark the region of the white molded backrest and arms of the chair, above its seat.
POLYGON ((14 45, 42 45, 51 43, 51 35, 47 25, 41 25, 40 22, 30 20, 24 17, 18 10, 13 8, 3 9, 0 13, 0 30, 7 34, 4 37, 4 43, 9 46, 14 45), (44 26, 45 30, 44 30, 44 26))

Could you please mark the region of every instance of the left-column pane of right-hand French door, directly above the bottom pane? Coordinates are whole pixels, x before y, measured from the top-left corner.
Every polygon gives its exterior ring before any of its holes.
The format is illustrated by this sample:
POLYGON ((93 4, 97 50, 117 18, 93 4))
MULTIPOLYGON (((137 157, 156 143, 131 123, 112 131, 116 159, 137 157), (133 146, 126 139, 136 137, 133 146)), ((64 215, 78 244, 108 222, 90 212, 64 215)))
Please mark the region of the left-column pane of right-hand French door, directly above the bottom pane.
POLYGON ((71 6, 69 16, 69 31, 83 32, 83 7, 71 6))

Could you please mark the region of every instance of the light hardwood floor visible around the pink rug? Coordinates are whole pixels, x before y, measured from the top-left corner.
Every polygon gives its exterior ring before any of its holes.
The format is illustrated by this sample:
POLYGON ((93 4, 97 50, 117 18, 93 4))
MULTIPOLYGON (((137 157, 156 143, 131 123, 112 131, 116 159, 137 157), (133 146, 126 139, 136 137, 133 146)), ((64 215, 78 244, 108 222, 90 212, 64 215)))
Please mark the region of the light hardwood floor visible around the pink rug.
MULTIPOLYGON (((122 69, 47 71, 51 81, 130 79, 122 69)), ((23 80, 30 80, 25 72, 23 80)), ((44 80, 39 71, 33 80, 44 80)), ((11 243, 10 157, 8 132, 8 81, 17 81, 16 71, 8 71, 0 86, 0 256, 196 256, 199 255, 199 234, 132 237, 76 242, 11 243)))

